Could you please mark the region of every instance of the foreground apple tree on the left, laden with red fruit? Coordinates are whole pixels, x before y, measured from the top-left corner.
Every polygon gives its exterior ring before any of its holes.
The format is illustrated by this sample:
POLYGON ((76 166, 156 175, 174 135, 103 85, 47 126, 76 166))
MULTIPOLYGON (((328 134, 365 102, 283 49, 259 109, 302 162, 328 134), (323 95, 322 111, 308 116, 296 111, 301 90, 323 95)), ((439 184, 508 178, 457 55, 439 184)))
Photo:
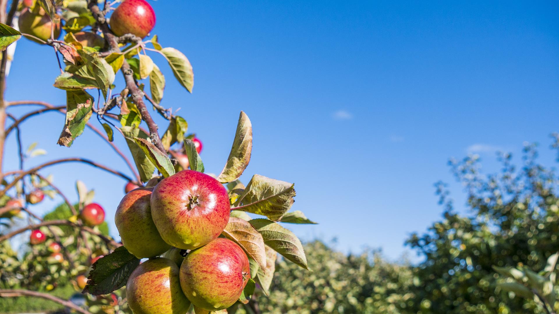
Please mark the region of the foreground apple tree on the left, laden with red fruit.
POLYGON ((313 223, 302 212, 289 211, 294 185, 259 174, 246 185, 239 180, 252 151, 247 114, 240 112, 229 157, 213 175, 205 173, 203 139, 188 132, 187 117, 165 108, 167 78, 160 69, 168 66, 187 92, 194 74, 181 51, 153 34, 158 12, 149 2, 2 0, 0 9, 0 159, 17 153, 20 160, 15 170, 2 169, 0 162, 0 297, 45 298, 83 314, 254 312, 255 292, 269 293, 277 253, 310 270, 301 241, 280 224, 313 223), (4 99, 18 40, 54 50, 44 62, 60 67, 53 84, 66 94, 65 106, 4 99), (166 64, 155 64, 150 55, 163 56, 166 64), (115 85, 116 75, 124 85, 115 85), (39 109, 15 117, 10 113, 15 106, 39 109), (32 144, 23 152, 20 125, 46 111, 62 113, 59 145, 70 148, 83 132, 93 132, 132 175, 80 157, 25 168, 41 150, 32 144), (158 126, 153 115, 168 125, 158 126), (9 135, 17 137, 17 152, 4 149, 9 135), (124 137, 126 148, 116 146, 116 136, 124 137), (70 201, 44 174, 49 166, 66 163, 115 175, 107 184, 124 189, 120 204, 103 208, 79 180, 78 201, 70 201), (64 203, 41 218, 32 205, 45 196, 64 203), (114 217, 106 215, 112 211, 114 217), (17 217, 29 223, 12 227, 17 217), (106 221, 113 218, 121 243, 108 236, 106 221), (23 232, 30 232, 30 251, 21 259, 8 240, 23 232), (64 280, 83 293, 83 306, 46 293, 64 280))

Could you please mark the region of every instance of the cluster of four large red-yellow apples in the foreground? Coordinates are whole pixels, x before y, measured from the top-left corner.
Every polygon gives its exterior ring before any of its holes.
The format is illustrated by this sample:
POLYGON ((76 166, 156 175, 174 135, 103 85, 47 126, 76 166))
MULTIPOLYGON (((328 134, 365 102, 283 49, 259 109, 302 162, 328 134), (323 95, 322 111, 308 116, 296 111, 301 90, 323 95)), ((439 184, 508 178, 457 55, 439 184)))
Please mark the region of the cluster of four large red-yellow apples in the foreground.
POLYGON ((115 214, 122 244, 148 258, 126 284, 134 313, 186 313, 191 304, 218 311, 239 299, 250 279, 249 260, 238 244, 219 237, 229 215, 225 187, 194 170, 122 198, 115 214))

